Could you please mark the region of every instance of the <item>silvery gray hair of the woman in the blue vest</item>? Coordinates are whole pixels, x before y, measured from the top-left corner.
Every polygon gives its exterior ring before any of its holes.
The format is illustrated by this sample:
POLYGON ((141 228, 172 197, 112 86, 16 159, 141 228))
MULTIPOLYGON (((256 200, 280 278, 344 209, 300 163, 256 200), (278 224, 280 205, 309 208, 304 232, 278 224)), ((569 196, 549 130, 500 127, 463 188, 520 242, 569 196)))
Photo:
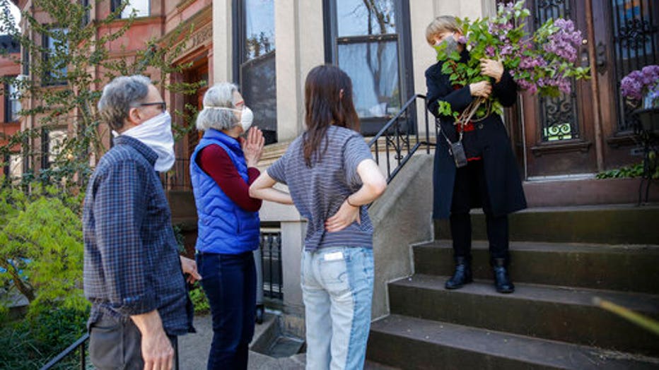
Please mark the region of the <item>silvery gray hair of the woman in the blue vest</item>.
POLYGON ((216 109, 235 108, 233 105, 234 91, 238 91, 238 86, 228 82, 218 83, 206 91, 204 109, 197 115, 197 130, 228 130, 238 124, 238 118, 231 110, 216 109))

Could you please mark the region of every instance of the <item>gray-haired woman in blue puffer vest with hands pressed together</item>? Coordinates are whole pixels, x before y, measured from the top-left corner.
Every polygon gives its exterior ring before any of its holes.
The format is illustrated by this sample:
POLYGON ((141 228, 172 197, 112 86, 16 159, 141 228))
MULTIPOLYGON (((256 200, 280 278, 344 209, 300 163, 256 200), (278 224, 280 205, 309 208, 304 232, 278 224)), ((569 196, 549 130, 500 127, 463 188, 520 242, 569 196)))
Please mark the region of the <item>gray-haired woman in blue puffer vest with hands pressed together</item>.
POLYGON ((213 341, 208 369, 247 369, 254 334, 261 201, 250 198, 263 133, 250 130, 252 111, 238 88, 221 83, 204 95, 197 129, 204 131, 190 158, 197 205, 197 266, 211 305, 213 341), (247 139, 241 138, 248 132, 247 139))

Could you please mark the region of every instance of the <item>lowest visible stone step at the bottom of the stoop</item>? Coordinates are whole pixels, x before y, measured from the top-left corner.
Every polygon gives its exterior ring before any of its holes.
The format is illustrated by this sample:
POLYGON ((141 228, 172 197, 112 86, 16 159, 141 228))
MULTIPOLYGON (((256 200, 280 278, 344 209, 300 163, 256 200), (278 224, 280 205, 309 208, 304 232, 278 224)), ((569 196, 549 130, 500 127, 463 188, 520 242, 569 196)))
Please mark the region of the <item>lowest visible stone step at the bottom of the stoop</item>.
POLYGON ((366 357, 400 369, 657 369, 659 359, 390 315, 371 325, 366 357))

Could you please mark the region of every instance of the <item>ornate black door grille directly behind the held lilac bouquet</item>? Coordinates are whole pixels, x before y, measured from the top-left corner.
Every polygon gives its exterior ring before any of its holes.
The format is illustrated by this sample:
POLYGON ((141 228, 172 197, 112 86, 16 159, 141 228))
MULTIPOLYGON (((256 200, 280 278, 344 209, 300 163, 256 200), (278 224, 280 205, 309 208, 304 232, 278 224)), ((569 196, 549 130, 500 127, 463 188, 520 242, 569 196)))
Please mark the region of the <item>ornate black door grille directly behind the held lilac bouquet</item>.
MULTIPOLYGON (((571 18, 573 7, 570 0, 535 1, 535 28, 549 18, 571 18)), ((542 141, 561 141, 579 137, 575 83, 572 80, 570 95, 540 97, 540 122, 542 141)))

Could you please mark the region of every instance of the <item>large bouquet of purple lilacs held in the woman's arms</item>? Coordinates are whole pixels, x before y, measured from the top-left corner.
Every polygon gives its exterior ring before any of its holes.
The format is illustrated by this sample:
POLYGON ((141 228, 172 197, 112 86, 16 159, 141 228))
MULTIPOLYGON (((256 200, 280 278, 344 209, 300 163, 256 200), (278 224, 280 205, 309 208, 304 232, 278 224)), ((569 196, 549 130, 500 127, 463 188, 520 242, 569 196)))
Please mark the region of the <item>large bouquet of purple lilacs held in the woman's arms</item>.
MULTIPOLYGON (((529 35, 524 21, 530 11, 524 8, 524 2, 499 4, 496 16, 491 18, 457 20, 465 35, 460 42, 470 51, 469 61, 460 63, 457 52, 447 55, 442 45, 436 47, 437 59, 446 61, 442 72, 450 75, 452 83, 462 87, 487 80, 480 74, 480 60, 484 58, 501 60, 520 89, 542 96, 568 94, 572 78, 588 78, 588 68, 575 65, 581 31, 575 29, 571 20, 557 18, 547 20, 529 35)), ((501 104, 491 97, 477 100, 470 108, 474 112, 458 117, 457 112, 450 111, 450 105, 440 105, 440 113, 460 119, 503 112, 501 104)))

